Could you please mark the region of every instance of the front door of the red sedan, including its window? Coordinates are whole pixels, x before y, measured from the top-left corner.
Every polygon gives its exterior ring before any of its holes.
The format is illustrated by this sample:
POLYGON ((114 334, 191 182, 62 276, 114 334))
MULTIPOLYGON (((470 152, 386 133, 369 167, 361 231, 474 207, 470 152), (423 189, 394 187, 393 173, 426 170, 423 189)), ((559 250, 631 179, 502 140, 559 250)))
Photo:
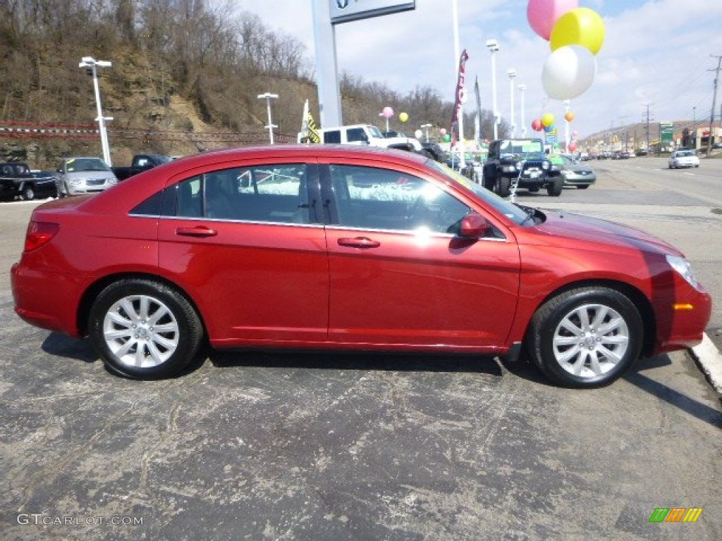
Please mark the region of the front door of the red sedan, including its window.
POLYGON ((329 339, 489 348, 505 343, 519 283, 515 242, 456 236, 469 206, 384 167, 321 165, 329 202, 329 339))

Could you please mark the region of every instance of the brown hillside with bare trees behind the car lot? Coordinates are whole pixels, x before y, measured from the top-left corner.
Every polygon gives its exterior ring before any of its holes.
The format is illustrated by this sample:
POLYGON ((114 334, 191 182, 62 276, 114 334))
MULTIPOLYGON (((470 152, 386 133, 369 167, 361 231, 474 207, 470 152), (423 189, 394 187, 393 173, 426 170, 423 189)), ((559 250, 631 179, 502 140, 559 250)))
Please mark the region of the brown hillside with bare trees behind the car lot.
MULTIPOLYGON (((295 38, 230 5, 0 3, 0 68, 8 74, 0 78, 0 159, 45 168, 67 155, 101 154, 92 78, 78 67, 83 56, 113 63, 98 71, 103 114, 113 117, 113 164, 127 164, 139 151, 189 154, 265 144, 266 102, 257 97, 264 92, 279 94, 272 103, 277 140, 295 140, 305 100, 319 120, 312 63, 295 38)), ((346 123, 378 124, 386 106, 411 118, 408 126, 392 118, 396 130, 448 127, 451 120, 453 105, 430 88, 402 96, 351 74, 342 74, 340 86, 346 123)), ((482 112, 482 128, 488 131, 491 121, 482 112)), ((471 115, 465 126, 473 126, 471 115)), ((438 129, 432 136, 439 137, 438 129)))

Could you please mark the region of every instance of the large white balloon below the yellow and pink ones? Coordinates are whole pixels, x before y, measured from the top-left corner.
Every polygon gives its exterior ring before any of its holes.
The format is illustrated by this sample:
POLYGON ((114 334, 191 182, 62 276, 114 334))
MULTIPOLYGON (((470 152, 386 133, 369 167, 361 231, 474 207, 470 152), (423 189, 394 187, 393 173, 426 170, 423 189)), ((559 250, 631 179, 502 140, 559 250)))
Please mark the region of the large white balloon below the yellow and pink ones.
POLYGON ((541 83, 553 100, 573 100, 586 92, 596 76, 596 58, 582 45, 554 50, 544 62, 541 83))

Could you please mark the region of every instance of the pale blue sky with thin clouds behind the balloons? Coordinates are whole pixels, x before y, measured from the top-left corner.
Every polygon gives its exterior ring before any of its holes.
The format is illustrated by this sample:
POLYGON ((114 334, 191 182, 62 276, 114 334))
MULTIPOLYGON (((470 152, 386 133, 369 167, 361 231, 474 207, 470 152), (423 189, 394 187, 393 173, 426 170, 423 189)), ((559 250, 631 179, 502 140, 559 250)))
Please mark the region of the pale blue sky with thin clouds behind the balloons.
MULTIPOLYGON (((298 38, 313 63, 312 0, 234 0, 239 11, 258 14, 274 32, 298 38)), ((437 89, 453 102, 456 85, 451 0, 416 0, 412 12, 336 26, 339 71, 380 82, 406 94, 417 86, 437 89)), ((525 84, 525 120, 552 113, 562 122, 565 104, 544 94, 541 73, 551 52, 526 17, 527 0, 458 0, 461 48, 466 48, 466 80, 479 80, 482 108, 491 110, 491 55, 495 38, 497 105, 510 120, 508 69, 525 84)), ((605 39, 596 55, 591 87, 570 102, 579 137, 643 121, 693 120, 709 123, 717 58, 722 56, 722 0, 579 0, 578 6, 604 20, 605 39), (648 107, 647 107, 648 105, 648 107)), ((722 76, 722 72, 721 72, 722 76)), ((722 78, 721 78, 722 87, 722 78)), ((516 123, 521 94, 515 92, 516 123)), ((473 102, 473 100, 472 100, 473 102)), ((475 107, 469 102, 467 113, 475 107)), ((722 88, 718 91, 719 118, 722 88)), ((375 122, 378 119, 369 119, 375 122)), ((414 120, 420 125, 423 119, 414 120)))

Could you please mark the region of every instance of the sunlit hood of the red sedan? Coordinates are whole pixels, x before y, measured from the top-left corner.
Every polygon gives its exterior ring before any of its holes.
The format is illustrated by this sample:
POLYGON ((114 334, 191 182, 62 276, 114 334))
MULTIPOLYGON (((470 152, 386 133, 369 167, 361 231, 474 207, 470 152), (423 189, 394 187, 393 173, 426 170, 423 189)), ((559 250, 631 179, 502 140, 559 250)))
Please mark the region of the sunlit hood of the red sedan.
POLYGON ((669 242, 642 229, 580 214, 559 211, 546 211, 545 214, 547 220, 533 228, 546 236, 545 242, 549 242, 549 237, 557 237, 566 246, 570 240, 578 240, 580 248, 588 242, 595 242, 609 245, 612 250, 632 249, 662 255, 682 255, 682 252, 669 242))

